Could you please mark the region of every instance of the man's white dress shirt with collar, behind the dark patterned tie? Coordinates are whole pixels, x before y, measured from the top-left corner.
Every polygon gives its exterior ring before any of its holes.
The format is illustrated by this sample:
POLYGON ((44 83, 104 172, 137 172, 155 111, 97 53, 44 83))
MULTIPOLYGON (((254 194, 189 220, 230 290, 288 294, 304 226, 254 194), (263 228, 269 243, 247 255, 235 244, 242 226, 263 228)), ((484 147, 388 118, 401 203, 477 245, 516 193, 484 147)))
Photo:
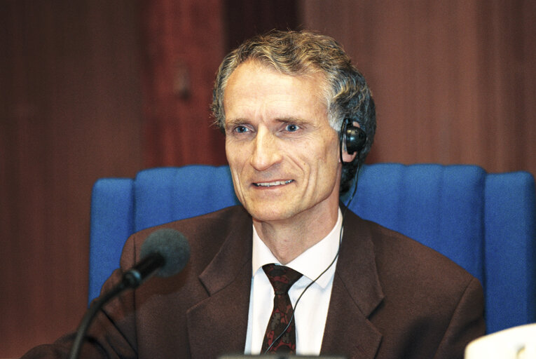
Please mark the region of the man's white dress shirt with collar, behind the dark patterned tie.
MULTIPOLYGON (((287 264, 291 269, 303 274, 289 290, 290 301, 294 307, 297 355, 319 355, 320 353, 336 260, 326 273, 305 291, 297 307, 296 301, 305 287, 334 261, 341 239, 342 225, 343 217, 339 209, 337 222, 331 232, 322 241, 287 264)), ((264 264, 269 263, 280 264, 253 228, 252 289, 249 297, 245 354, 261 352, 266 326, 272 314, 274 291, 262 269, 264 264)))

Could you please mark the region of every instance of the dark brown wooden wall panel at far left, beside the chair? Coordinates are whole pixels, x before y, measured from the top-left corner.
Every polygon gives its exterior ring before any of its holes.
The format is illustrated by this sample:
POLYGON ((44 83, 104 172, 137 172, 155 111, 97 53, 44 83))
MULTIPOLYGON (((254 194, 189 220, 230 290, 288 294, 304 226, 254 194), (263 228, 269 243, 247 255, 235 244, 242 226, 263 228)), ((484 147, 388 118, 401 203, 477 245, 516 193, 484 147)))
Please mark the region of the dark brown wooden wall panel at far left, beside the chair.
POLYGON ((90 191, 143 167, 137 2, 0 2, 0 358, 74 330, 90 191))

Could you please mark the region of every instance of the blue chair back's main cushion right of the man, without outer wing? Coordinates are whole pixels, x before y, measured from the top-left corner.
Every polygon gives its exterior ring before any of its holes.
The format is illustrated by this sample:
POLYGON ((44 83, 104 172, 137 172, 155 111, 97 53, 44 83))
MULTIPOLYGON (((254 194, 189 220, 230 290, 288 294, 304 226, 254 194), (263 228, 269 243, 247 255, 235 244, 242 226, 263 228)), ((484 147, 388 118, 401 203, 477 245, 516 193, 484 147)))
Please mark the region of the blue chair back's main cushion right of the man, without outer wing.
POLYGON ((482 282, 485 176, 468 165, 370 165, 350 209, 441 252, 482 282))

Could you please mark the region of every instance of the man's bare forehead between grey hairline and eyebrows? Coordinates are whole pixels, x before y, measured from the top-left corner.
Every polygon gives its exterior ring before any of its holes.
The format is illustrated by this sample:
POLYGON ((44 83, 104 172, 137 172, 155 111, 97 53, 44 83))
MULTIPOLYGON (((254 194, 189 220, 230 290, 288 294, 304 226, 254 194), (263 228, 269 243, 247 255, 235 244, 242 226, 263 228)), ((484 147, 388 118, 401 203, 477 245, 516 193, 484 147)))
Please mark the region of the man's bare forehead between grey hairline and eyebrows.
POLYGON ((224 92, 226 118, 235 111, 285 109, 326 111, 324 91, 327 81, 321 72, 291 76, 273 67, 249 60, 229 76, 224 92))

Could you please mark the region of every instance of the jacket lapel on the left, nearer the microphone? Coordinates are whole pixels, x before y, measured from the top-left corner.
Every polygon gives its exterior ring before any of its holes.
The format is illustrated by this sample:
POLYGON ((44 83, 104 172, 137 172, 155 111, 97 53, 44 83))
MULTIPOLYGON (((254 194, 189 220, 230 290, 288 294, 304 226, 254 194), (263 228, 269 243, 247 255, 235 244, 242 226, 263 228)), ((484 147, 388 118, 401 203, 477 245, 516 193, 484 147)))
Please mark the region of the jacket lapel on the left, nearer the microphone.
POLYGON ((252 220, 242 216, 199 279, 209 297, 186 313, 192 358, 243 353, 252 278, 252 220))

